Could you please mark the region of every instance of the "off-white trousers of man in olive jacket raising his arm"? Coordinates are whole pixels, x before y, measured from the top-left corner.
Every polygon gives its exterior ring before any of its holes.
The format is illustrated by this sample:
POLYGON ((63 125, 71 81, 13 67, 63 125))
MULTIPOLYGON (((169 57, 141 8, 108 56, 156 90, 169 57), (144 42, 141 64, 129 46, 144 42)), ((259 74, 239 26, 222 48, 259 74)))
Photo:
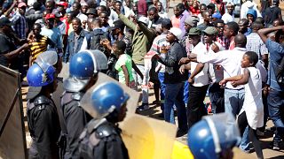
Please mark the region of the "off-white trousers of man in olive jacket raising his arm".
POLYGON ((148 103, 149 98, 149 92, 148 92, 148 84, 149 84, 149 73, 147 70, 145 70, 144 65, 142 64, 136 64, 140 72, 143 73, 144 78, 141 79, 141 77, 138 75, 137 72, 132 69, 132 75, 135 80, 136 86, 141 85, 142 88, 142 103, 148 103), (147 73, 146 73, 147 72, 147 73))

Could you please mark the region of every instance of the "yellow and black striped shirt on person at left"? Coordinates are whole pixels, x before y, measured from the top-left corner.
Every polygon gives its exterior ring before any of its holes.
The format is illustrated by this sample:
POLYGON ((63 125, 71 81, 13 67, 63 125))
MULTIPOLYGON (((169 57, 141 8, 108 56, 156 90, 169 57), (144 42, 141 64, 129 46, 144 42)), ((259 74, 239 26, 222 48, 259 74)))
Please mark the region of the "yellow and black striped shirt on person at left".
POLYGON ((36 57, 46 51, 50 39, 47 36, 42 36, 37 42, 29 42, 30 55, 32 57, 32 63, 36 60, 36 57))

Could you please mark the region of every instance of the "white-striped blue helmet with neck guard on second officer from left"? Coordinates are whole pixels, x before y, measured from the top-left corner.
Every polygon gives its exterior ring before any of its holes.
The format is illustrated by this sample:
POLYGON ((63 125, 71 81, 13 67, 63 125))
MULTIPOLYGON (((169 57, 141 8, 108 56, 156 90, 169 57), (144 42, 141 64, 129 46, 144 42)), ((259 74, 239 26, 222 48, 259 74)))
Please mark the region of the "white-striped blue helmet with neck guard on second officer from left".
POLYGON ((106 55, 99 50, 82 50, 69 63, 69 77, 63 87, 70 92, 79 92, 99 71, 107 69, 106 55))

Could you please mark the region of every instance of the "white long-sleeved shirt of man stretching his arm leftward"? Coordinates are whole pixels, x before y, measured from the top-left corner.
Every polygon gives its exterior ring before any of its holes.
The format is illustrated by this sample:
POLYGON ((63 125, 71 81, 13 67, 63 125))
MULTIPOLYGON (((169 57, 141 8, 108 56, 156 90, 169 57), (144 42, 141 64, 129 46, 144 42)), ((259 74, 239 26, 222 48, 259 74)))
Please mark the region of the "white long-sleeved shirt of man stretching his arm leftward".
MULTIPOLYGON (((240 75, 243 72, 241 59, 245 52, 245 48, 236 47, 233 50, 224 50, 205 56, 204 54, 197 54, 197 61, 222 65, 224 68, 224 78, 229 78, 240 75)), ((241 89, 244 86, 233 87, 231 82, 227 82, 225 87, 229 89, 241 89)))

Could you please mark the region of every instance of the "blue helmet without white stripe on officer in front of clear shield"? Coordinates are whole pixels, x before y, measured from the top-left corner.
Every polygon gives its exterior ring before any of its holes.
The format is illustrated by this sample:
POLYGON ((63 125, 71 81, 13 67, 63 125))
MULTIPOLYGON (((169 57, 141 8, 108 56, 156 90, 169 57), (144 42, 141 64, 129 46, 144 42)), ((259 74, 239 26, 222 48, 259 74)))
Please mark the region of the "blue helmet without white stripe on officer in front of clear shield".
POLYGON ((85 95, 88 97, 83 98, 82 108, 96 119, 106 117, 114 110, 119 111, 130 98, 122 87, 114 82, 102 83, 95 87, 90 95, 85 95))

